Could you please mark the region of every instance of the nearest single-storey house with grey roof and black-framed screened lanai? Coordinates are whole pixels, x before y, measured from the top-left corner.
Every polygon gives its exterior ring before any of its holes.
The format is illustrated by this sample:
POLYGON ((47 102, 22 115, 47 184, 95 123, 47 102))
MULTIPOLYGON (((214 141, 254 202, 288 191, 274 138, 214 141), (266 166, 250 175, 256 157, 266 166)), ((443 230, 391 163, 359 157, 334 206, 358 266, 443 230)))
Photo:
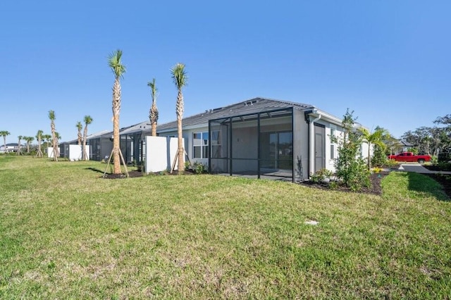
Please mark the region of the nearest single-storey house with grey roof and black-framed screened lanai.
MULTIPOLYGON (((183 137, 187 156, 210 173, 299 181, 334 170, 338 145, 330 135, 342 135, 341 122, 309 104, 254 98, 184 118, 183 137)), ((177 121, 156 130, 176 137, 177 121)))

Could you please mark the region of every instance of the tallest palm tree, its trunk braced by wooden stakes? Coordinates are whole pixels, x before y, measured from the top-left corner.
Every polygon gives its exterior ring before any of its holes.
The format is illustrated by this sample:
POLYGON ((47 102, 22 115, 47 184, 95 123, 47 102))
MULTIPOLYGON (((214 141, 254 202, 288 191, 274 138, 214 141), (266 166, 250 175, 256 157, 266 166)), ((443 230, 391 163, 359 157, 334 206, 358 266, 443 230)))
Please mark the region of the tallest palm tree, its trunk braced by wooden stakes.
POLYGON ((119 113, 121 112, 121 78, 125 73, 125 65, 122 64, 122 50, 116 50, 110 54, 108 65, 114 73, 113 85, 113 163, 114 174, 121 174, 121 158, 119 156, 120 140, 119 140, 119 113))

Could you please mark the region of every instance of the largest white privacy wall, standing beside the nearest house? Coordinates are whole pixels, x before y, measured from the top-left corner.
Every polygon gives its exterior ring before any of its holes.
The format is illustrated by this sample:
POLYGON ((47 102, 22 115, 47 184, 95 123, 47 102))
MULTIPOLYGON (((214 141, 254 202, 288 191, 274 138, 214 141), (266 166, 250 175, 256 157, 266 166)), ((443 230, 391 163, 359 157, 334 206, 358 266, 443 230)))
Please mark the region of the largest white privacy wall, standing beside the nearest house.
MULTIPOLYGON (((171 170, 177 149, 177 137, 146 137, 146 173, 171 170)), ((183 154, 183 163, 185 163, 185 154, 183 154)), ((177 167, 178 164, 175 163, 174 170, 177 170, 177 167)))

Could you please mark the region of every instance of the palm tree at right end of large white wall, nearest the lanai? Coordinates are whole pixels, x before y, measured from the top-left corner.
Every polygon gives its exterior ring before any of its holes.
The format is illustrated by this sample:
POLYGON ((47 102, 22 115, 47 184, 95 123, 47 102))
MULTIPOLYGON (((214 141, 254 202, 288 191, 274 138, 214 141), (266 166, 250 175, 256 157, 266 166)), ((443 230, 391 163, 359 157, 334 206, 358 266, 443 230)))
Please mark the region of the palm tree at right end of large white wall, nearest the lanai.
POLYGON ((182 174, 185 169, 183 163, 183 156, 185 149, 183 149, 182 140, 182 118, 183 118, 183 94, 182 88, 187 85, 188 77, 185 72, 185 65, 183 63, 177 63, 174 68, 171 69, 172 79, 175 87, 177 87, 177 103, 175 104, 175 113, 177 115, 177 135, 178 135, 178 173, 182 174))

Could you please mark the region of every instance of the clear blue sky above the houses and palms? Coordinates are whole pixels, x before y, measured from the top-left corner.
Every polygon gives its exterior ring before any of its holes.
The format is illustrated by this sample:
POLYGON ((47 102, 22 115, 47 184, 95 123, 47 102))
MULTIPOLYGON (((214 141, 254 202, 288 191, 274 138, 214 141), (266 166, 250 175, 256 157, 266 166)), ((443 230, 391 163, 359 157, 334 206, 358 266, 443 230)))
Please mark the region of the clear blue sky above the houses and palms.
MULTIPOLYGON (((112 130, 123 50, 121 127, 175 120, 170 68, 185 63, 185 116, 256 96, 312 104, 396 137, 451 113, 451 1, 2 1, 0 130, 63 141, 112 130), (158 3, 154 3, 158 2, 158 3)), ((2 144, 1 141, 0 144, 2 144)))

